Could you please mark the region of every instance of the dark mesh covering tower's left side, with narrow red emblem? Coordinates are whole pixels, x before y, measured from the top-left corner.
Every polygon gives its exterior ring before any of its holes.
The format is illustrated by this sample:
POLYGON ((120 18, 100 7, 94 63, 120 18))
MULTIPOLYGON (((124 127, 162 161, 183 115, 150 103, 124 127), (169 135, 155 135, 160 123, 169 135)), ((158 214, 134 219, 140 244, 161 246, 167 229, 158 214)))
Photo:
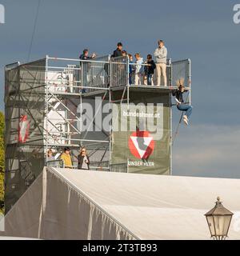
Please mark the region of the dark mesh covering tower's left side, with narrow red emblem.
POLYGON ((45 63, 6 69, 6 211, 44 166, 45 63))

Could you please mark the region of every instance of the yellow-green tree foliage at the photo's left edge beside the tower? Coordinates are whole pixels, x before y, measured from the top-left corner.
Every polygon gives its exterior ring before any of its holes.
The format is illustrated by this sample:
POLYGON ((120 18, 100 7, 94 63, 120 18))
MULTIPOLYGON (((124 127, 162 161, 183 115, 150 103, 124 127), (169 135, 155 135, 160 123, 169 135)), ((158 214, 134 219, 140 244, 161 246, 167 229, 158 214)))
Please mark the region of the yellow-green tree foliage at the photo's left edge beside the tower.
MULTIPOLYGON (((4 201, 4 170, 5 170, 4 130, 5 130, 4 114, 0 112, 0 202, 4 201)), ((4 212, 4 209, 0 208, 0 213, 3 213, 3 212, 4 212)))

